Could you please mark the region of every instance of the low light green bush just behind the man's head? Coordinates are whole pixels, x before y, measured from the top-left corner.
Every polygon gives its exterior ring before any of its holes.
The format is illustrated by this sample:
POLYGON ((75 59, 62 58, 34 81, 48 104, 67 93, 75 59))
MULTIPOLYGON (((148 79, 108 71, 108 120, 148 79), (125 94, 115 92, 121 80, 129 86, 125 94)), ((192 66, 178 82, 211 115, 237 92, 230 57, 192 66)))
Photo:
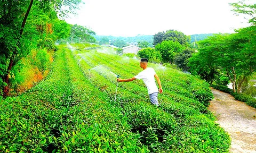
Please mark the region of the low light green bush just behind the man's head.
POLYGON ((151 63, 160 63, 162 61, 161 54, 154 48, 143 48, 139 50, 138 56, 140 58, 147 58, 151 63))

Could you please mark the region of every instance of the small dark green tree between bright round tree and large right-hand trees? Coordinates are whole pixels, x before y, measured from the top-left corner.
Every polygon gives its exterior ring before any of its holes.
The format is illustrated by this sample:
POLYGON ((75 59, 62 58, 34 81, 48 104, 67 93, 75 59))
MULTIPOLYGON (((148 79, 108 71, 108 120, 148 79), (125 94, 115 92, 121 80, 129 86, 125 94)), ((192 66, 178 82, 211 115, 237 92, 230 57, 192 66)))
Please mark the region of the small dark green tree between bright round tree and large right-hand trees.
POLYGON ((195 53, 194 49, 186 48, 174 58, 174 63, 183 71, 188 71, 188 58, 190 58, 193 53, 195 53))

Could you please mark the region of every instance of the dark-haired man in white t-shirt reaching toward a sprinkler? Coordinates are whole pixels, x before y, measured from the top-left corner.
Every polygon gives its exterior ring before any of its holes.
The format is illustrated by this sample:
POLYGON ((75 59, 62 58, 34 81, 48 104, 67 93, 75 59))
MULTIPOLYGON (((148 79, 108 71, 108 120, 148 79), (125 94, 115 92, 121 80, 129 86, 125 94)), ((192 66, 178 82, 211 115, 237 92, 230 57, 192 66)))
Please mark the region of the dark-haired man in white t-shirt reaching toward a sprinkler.
POLYGON ((138 75, 131 79, 117 79, 118 82, 130 82, 136 79, 142 79, 143 82, 145 83, 146 87, 148 88, 148 95, 150 98, 150 101, 152 104, 159 106, 158 101, 157 101, 157 95, 158 91, 161 94, 163 92, 162 86, 161 86, 161 81, 159 77, 157 76, 155 70, 151 67, 148 67, 148 60, 147 58, 142 58, 140 60, 140 67, 143 69, 138 75), (159 89, 156 86, 156 81, 158 83, 159 89))

